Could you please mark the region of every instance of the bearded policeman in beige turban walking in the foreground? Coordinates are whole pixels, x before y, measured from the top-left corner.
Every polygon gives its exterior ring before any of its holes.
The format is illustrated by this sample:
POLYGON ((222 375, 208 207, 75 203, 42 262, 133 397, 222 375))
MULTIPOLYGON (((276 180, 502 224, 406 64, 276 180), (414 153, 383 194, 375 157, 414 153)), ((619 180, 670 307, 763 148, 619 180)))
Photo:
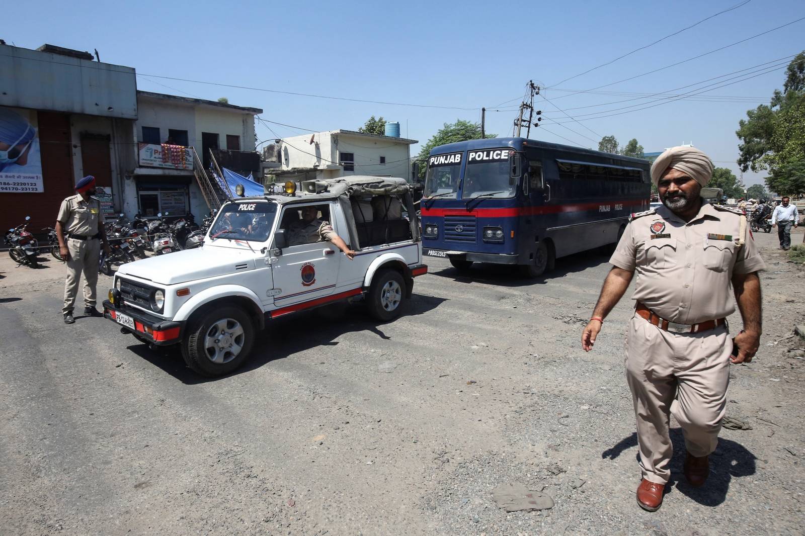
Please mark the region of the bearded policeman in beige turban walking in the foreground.
POLYGON ((698 487, 718 443, 729 364, 752 361, 760 344, 758 270, 766 266, 743 214, 700 198, 711 176, 710 159, 693 147, 673 147, 654 162, 651 179, 663 206, 632 216, 581 336, 589 352, 637 273, 625 367, 638 423, 637 500, 652 512, 662 505, 671 476, 670 414, 685 439, 684 476, 698 487), (735 311, 731 294, 744 323, 734 339, 737 356, 725 320, 735 311))

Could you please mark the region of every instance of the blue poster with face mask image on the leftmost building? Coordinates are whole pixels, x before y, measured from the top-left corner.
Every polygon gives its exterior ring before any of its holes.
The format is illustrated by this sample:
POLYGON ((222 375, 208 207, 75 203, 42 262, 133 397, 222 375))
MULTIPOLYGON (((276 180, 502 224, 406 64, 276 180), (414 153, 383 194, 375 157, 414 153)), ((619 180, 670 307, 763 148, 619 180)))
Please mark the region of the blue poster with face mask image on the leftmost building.
POLYGON ((44 192, 36 112, 0 106, 0 192, 44 192))

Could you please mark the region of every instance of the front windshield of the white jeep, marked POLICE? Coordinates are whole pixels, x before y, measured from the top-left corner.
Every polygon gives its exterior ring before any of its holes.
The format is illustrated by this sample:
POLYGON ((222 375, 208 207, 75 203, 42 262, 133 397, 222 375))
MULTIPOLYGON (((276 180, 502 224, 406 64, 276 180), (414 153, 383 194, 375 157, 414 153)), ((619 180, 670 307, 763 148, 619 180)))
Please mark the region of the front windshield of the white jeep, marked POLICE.
POLYGON ((236 202, 225 204, 209 229, 209 237, 218 239, 264 242, 268 240, 277 205, 263 202, 236 202))

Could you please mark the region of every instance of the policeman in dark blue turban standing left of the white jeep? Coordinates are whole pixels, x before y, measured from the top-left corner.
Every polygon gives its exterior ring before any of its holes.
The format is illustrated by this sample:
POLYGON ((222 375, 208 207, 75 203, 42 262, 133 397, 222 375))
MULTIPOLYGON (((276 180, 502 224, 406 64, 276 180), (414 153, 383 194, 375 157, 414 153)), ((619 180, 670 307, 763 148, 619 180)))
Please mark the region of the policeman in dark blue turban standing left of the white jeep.
POLYGON ((101 202, 95 195, 95 177, 84 177, 76 184, 76 195, 61 202, 56 217, 56 237, 61 258, 67 262, 67 281, 64 282, 64 324, 75 322, 72 307, 76 303, 78 281, 84 271, 84 314, 103 316, 95 308, 95 287, 98 281, 101 241, 106 254, 109 242, 104 233, 101 202))

